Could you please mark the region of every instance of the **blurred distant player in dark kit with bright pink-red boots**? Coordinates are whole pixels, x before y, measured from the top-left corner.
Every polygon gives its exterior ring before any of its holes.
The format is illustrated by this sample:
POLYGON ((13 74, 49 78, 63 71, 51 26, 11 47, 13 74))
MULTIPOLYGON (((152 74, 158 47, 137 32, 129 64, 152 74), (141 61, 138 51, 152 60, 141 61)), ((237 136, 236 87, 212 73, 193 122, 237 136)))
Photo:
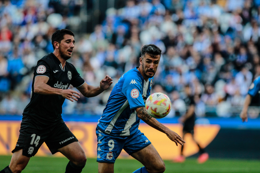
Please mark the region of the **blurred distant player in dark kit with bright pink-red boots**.
MULTIPOLYGON (((185 104, 186 104, 186 113, 179 118, 179 121, 183 123, 183 140, 185 139, 185 135, 187 133, 190 133, 192 135, 193 141, 198 145, 199 148, 199 157, 198 157, 198 162, 199 163, 204 163, 207 161, 209 158, 209 154, 205 152, 204 148, 201 148, 200 144, 195 140, 194 138, 194 126, 195 126, 195 101, 194 101, 194 96, 192 95, 192 89, 189 84, 187 84, 184 87, 184 92, 185 92, 185 104)), ((174 162, 184 162, 185 157, 183 156, 183 149, 184 145, 181 146, 181 155, 174 159, 174 162)))

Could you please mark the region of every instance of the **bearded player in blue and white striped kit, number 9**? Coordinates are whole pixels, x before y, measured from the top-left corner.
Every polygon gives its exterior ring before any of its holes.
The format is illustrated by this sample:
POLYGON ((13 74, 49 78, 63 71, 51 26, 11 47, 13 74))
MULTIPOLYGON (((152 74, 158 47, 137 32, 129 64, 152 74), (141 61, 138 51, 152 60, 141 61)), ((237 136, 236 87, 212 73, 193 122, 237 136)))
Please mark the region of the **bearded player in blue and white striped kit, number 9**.
POLYGON ((99 173, 114 172, 114 163, 122 149, 144 165, 134 173, 164 172, 164 161, 138 129, 140 119, 165 133, 177 146, 185 142, 177 133, 152 118, 145 108, 160 57, 161 50, 157 46, 143 46, 140 66, 123 74, 114 86, 96 128, 99 173))

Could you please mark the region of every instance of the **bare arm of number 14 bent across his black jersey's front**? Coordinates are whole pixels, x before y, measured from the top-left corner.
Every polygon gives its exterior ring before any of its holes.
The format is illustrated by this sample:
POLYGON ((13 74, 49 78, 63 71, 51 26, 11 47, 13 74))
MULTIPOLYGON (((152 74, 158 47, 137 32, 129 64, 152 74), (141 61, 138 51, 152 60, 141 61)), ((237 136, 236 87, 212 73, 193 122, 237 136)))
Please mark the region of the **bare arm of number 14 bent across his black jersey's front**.
POLYGON ((70 100, 77 101, 80 93, 71 89, 58 89, 52 88, 47 85, 49 78, 46 76, 36 76, 34 79, 34 93, 46 95, 62 95, 62 97, 70 100))

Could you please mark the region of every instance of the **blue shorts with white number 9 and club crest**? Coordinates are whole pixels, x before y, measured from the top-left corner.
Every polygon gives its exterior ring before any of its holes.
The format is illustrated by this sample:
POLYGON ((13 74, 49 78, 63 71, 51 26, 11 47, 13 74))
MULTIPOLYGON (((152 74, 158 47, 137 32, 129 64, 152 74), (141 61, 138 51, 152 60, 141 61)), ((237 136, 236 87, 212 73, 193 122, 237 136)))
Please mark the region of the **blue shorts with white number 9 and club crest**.
POLYGON ((110 136, 96 128, 96 136, 97 162, 115 163, 122 149, 131 155, 151 144, 140 130, 132 136, 110 136))

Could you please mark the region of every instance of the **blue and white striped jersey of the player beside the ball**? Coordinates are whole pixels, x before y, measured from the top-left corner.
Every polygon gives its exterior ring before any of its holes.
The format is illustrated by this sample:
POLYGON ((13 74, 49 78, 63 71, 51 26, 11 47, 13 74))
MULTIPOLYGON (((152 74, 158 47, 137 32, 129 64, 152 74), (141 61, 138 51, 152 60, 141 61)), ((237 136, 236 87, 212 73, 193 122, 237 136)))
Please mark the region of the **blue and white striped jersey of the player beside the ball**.
POLYGON ((138 130, 135 108, 145 107, 153 77, 147 82, 135 67, 123 74, 114 86, 97 128, 112 136, 130 136, 138 130))

